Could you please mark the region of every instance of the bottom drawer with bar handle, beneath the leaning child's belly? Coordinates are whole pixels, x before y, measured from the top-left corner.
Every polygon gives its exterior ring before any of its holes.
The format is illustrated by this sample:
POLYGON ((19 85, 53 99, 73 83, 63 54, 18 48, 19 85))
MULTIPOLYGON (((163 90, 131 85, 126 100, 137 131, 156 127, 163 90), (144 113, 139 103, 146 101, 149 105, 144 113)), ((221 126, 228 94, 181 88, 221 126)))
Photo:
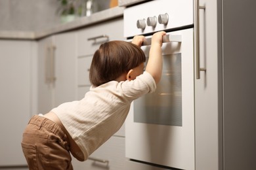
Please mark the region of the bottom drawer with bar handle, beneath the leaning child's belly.
POLYGON ((125 139, 123 137, 111 137, 108 141, 106 141, 106 143, 100 146, 98 150, 91 154, 89 158, 89 160, 84 162, 79 162, 74 158, 72 161, 74 169, 124 169, 125 139))

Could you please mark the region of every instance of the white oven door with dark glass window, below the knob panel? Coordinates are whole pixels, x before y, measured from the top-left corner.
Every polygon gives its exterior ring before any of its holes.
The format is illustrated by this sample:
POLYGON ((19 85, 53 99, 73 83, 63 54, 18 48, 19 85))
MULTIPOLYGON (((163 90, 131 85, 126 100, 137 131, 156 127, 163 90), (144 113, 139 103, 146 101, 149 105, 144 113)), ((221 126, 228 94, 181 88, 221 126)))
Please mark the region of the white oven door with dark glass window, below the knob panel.
MULTIPOLYGON (((135 100, 127 116, 125 154, 131 161, 167 169, 194 169, 193 29, 167 35, 171 42, 162 46, 163 73, 156 92, 135 100)), ((150 46, 142 50, 148 56, 150 46)))

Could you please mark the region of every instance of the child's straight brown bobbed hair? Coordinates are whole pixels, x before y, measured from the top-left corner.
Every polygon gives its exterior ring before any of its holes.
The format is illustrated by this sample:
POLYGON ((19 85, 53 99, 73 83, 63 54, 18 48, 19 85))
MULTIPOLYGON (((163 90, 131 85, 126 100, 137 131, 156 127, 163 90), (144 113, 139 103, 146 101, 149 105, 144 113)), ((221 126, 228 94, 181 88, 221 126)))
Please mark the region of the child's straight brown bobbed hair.
POLYGON ((100 86, 116 80, 123 73, 138 67, 146 61, 144 52, 139 46, 125 41, 109 41, 96 50, 90 68, 90 81, 100 86))

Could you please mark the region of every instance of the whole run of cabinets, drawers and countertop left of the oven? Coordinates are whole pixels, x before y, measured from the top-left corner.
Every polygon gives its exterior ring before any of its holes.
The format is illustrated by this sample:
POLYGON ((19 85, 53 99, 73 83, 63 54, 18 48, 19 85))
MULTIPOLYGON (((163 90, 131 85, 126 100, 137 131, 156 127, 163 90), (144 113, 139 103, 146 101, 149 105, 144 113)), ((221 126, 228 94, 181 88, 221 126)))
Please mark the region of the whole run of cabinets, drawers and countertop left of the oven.
MULTIPOLYGON (((106 40, 123 39, 122 14, 123 8, 115 7, 52 29, 0 30, 0 169, 28 169, 20 142, 30 117, 85 95, 96 48, 106 40)), ((90 160, 74 160, 74 169, 123 169, 124 136, 123 126, 90 160), (102 160, 108 161, 102 165, 102 160)))

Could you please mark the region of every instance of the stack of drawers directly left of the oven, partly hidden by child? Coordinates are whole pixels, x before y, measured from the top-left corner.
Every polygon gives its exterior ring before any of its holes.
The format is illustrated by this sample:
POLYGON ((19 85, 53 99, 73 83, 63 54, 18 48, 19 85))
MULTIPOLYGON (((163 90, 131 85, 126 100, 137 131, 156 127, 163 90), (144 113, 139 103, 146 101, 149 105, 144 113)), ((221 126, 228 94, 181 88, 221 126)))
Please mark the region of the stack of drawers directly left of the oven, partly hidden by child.
MULTIPOLYGON (((84 97, 89 90, 89 69, 93 54, 100 44, 124 40, 123 18, 116 18, 91 25, 77 31, 77 99, 84 97)), ((89 160, 80 162, 73 158, 74 169, 124 169, 125 165, 125 127, 122 126, 106 143, 96 150, 89 160)))

